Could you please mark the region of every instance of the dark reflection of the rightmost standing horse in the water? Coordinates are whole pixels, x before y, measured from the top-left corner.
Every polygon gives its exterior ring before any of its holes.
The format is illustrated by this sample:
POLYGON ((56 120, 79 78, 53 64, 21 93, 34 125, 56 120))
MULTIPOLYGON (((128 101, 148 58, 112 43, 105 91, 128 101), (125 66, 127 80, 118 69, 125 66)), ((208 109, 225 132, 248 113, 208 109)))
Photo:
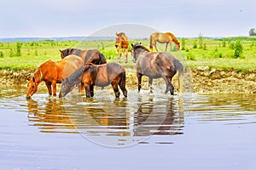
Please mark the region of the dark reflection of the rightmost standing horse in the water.
POLYGON ((138 109, 134 113, 137 121, 134 123, 135 136, 176 135, 182 134, 184 118, 182 107, 176 111, 173 99, 163 102, 138 99, 138 109))

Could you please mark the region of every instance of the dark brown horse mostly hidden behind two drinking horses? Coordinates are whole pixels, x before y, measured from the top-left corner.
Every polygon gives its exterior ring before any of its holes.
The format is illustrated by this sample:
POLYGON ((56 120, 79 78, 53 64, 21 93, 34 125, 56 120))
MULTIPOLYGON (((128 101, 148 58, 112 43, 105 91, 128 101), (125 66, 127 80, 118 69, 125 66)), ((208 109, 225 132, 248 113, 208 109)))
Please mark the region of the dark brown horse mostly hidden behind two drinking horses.
POLYGON ((97 49, 81 50, 78 48, 67 48, 61 50, 61 59, 67 57, 67 55, 74 54, 84 59, 84 64, 93 63, 96 65, 102 65, 107 63, 105 56, 97 49))

